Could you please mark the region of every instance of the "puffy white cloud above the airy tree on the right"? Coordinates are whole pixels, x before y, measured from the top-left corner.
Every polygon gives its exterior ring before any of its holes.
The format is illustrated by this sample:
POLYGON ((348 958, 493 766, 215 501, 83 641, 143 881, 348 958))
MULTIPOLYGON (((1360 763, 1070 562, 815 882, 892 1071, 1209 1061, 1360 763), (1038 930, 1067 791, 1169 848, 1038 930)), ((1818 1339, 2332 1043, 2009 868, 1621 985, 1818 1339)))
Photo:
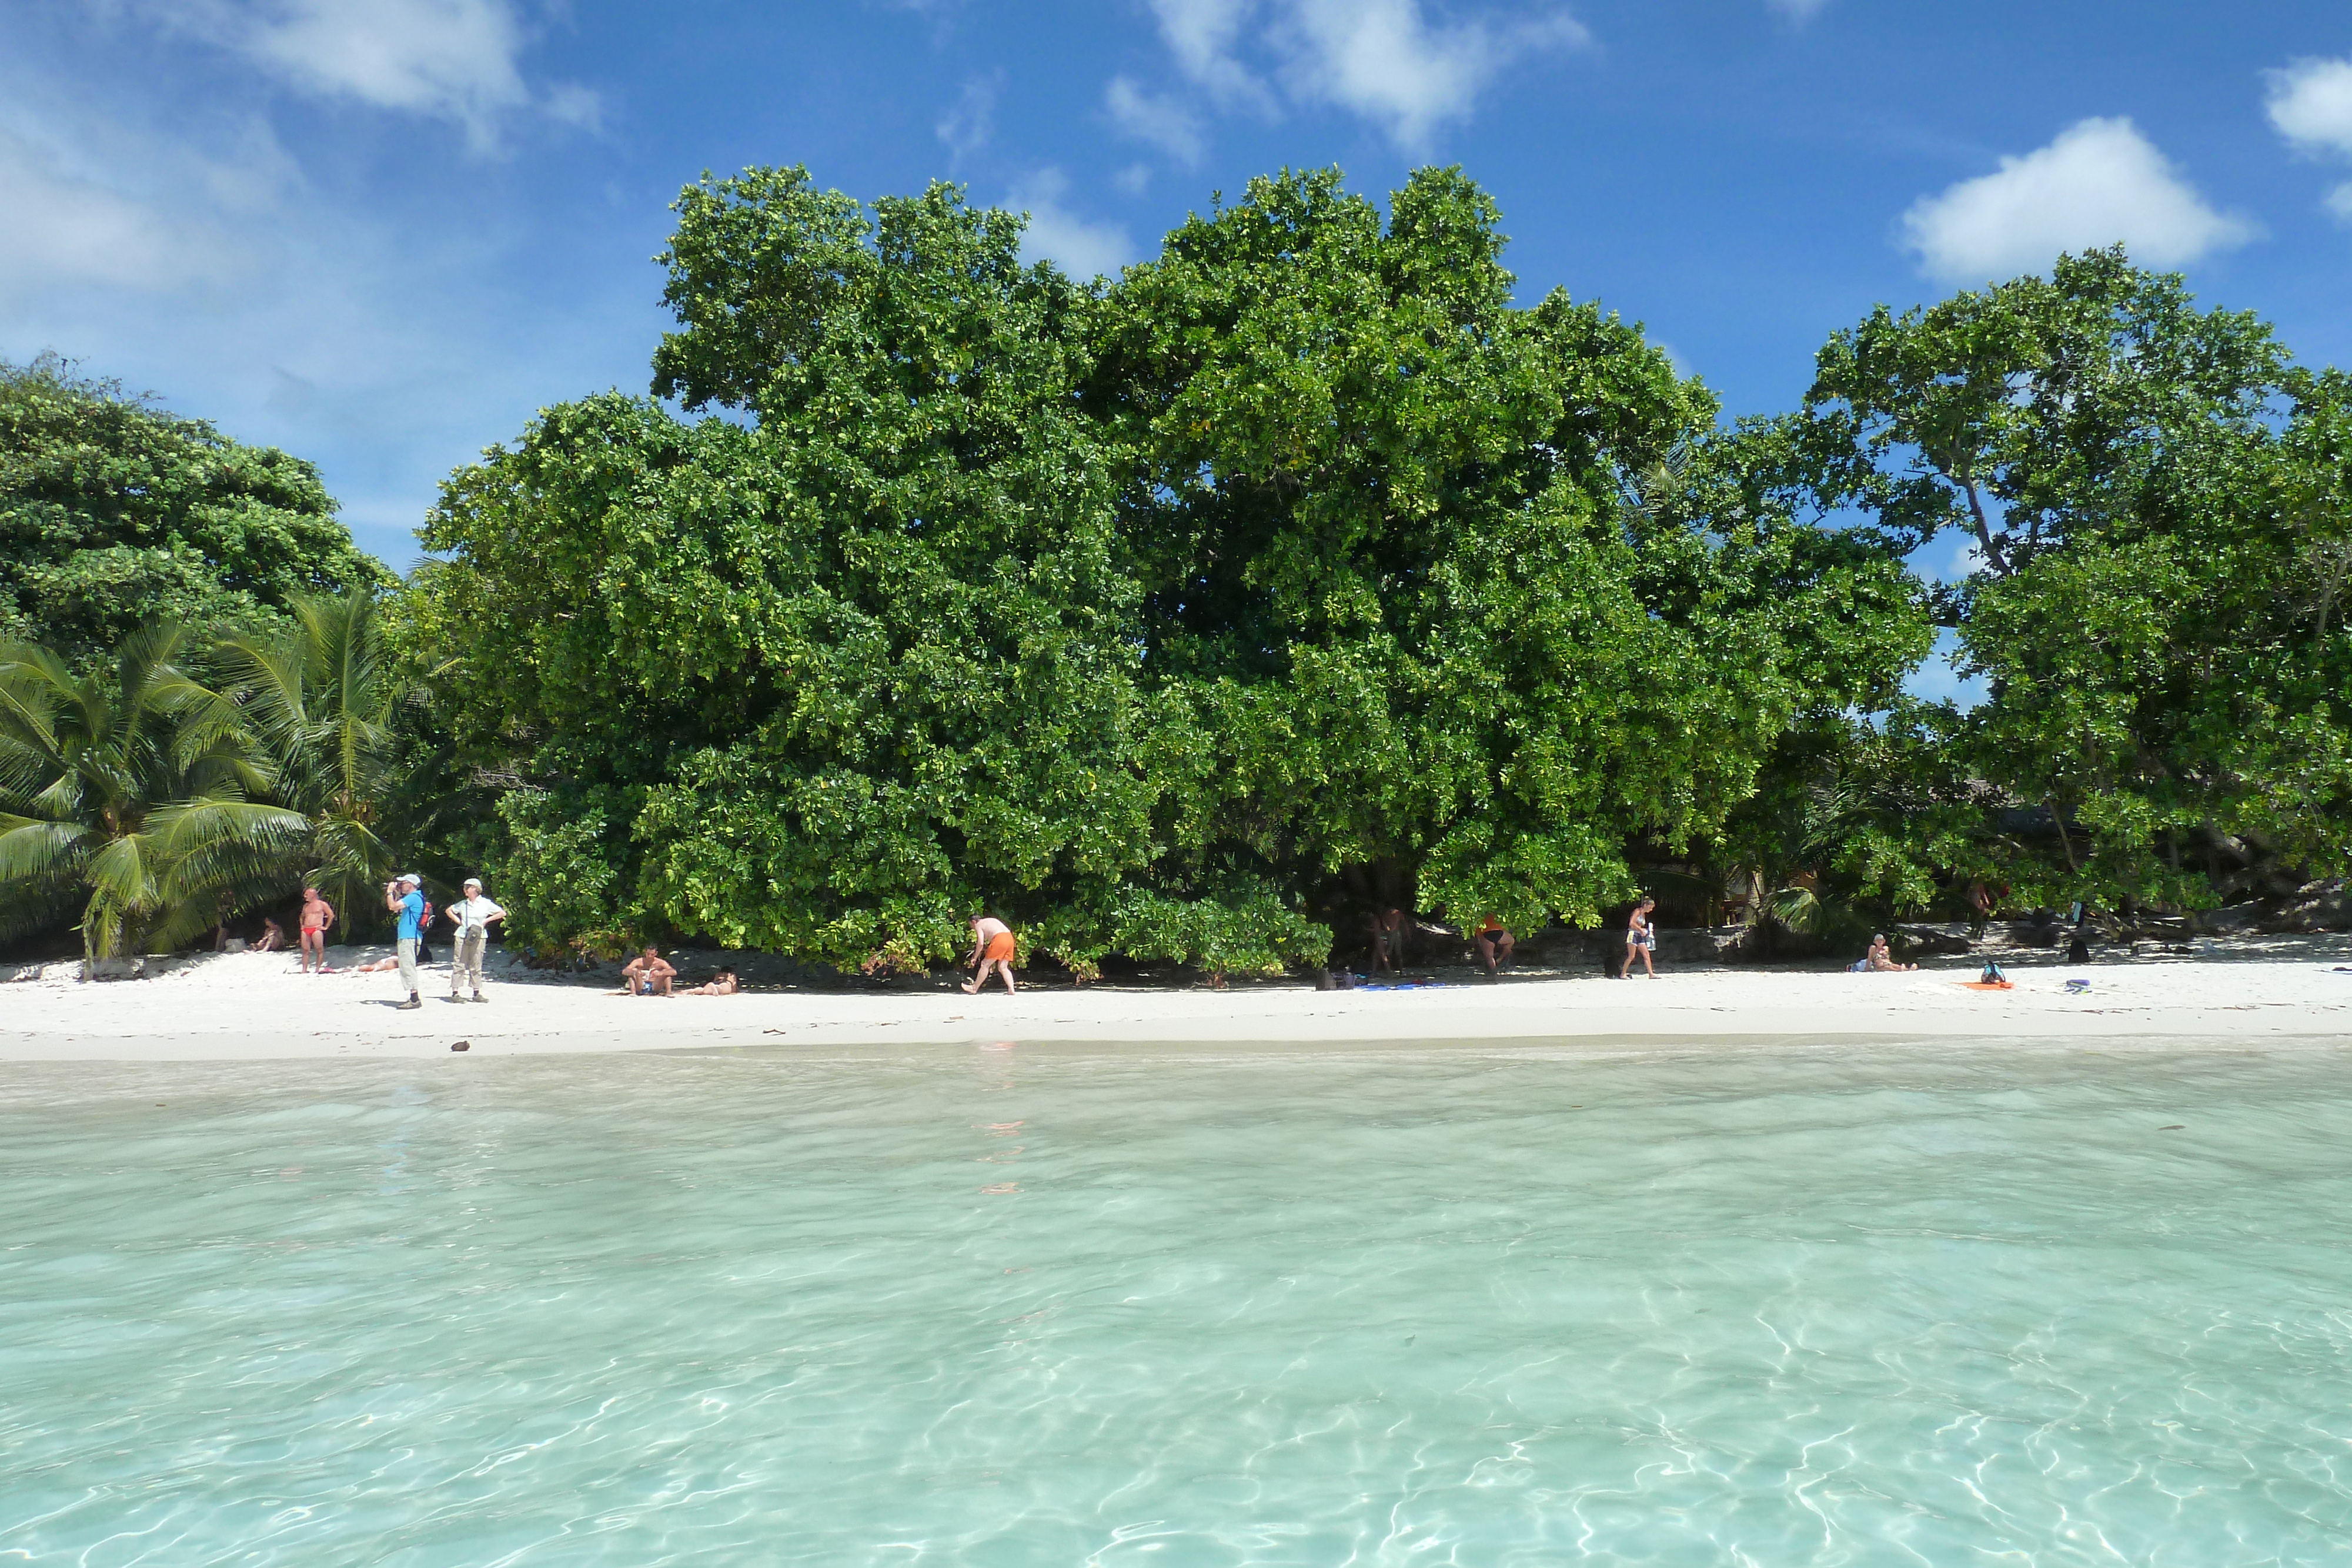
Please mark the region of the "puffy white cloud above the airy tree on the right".
POLYGON ((2046 268, 2060 252, 2124 242, 2154 266, 2178 266, 2256 237, 2216 212, 2131 120, 2082 120, 2046 148, 2004 158, 1903 214, 1903 244, 1945 282, 2046 268))

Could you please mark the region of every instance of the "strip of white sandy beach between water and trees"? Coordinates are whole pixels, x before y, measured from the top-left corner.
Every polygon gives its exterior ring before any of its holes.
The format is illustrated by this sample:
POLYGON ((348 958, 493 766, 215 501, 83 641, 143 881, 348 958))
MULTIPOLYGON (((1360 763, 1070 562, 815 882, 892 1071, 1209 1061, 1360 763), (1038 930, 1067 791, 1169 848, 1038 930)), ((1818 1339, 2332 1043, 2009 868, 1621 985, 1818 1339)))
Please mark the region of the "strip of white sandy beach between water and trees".
POLYGON ((1089 985, 1058 976, 1018 997, 774 990, 619 997, 609 983, 496 961, 492 1001, 449 1004, 426 969, 421 1011, 395 1011, 393 973, 301 976, 294 957, 209 954, 146 980, 82 985, 66 966, 0 985, 0 1060, 233 1060, 447 1053, 875 1046, 889 1041, 1764 1041, 2037 1039, 2352 1044, 2352 936, 2279 938, 2225 957, 2086 966, 2002 954, 2016 990, 1962 983, 1973 961, 1919 973, 1691 969, 1656 980, 1468 971, 1418 990, 1315 992, 1303 983, 1089 985), (2345 966, 2345 969, 2338 969, 2345 966), (2065 980, 2091 983, 2067 994, 2065 980))

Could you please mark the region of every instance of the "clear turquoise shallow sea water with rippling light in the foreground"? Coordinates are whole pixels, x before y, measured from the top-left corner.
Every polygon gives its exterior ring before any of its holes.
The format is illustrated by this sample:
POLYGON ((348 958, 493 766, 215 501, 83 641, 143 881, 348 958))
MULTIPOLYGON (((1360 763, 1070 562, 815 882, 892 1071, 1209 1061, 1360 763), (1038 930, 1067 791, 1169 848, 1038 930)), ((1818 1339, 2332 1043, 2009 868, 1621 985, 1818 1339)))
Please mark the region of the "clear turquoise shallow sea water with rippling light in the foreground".
POLYGON ((7 1067, 0 1192, 0 1563, 2352 1561, 2352 1051, 7 1067))

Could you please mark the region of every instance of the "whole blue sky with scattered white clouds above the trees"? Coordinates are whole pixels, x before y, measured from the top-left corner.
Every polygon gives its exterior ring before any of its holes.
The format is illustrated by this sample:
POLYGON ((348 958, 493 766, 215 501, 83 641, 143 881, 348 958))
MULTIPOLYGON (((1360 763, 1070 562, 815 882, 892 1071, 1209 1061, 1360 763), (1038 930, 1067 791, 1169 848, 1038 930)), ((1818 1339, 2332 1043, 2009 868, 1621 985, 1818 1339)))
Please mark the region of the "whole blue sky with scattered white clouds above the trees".
POLYGON ((644 390, 668 202, 750 162, 957 179, 1087 273, 1282 165, 1461 162, 1524 299, 1731 414, 2107 240, 2352 362, 2343 0, 0 0, 0 355, 318 461, 407 564, 454 465, 644 390))

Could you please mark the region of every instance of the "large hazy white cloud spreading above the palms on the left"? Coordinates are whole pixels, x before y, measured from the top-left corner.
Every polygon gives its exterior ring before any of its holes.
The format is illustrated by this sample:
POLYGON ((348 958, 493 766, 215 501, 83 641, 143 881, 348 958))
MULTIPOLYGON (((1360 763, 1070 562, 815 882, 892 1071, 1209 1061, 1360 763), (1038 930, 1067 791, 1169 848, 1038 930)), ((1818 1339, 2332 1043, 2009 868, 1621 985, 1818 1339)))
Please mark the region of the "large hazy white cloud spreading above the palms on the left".
POLYGON ((0 357, 56 350, 320 463, 397 567, 485 440, 644 383, 642 294, 501 270, 515 228, 477 181, 419 169, 428 216, 343 202, 235 108, 249 82, 125 82, 89 56, 0 52, 0 357))

